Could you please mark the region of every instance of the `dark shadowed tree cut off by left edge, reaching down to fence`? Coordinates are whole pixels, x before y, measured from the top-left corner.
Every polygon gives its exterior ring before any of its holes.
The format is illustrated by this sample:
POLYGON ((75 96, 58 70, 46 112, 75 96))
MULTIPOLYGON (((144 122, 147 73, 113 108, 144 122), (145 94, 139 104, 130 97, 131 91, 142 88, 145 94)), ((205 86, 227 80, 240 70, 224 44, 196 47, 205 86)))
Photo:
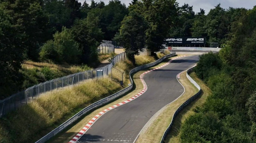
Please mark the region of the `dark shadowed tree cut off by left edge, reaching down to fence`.
POLYGON ((16 33, 11 17, 0 10, 0 99, 19 90, 19 69, 23 62, 24 47, 16 33))

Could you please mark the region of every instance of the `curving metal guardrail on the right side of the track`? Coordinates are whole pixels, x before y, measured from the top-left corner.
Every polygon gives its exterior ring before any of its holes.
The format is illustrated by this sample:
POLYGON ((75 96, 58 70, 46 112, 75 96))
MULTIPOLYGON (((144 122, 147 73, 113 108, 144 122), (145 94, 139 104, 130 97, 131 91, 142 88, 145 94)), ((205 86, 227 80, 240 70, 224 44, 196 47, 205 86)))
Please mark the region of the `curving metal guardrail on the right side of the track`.
POLYGON ((189 73, 192 72, 194 69, 194 67, 190 68, 189 70, 187 70, 187 78, 189 79, 189 81, 195 85, 195 87, 197 87, 197 89, 199 90, 194 96, 192 96, 191 98, 189 98, 187 101, 185 101, 173 114, 173 118, 171 119, 171 123, 168 126, 168 128, 166 129, 166 131, 164 132, 164 135, 160 141, 160 143, 164 143, 164 139, 166 138, 166 135, 170 132, 171 130, 171 126, 173 125, 173 121, 175 119, 175 117, 177 116, 177 114, 184 108, 186 107, 188 104, 190 104, 192 101, 194 101, 200 94, 201 94, 201 87, 189 76, 189 73))

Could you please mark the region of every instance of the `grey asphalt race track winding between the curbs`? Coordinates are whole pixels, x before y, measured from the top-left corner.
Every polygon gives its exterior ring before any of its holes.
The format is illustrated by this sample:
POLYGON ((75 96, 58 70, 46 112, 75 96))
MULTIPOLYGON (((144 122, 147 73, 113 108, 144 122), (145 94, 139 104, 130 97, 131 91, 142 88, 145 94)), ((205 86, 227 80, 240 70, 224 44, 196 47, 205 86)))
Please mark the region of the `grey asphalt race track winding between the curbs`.
POLYGON ((176 75, 194 66, 197 61, 197 55, 181 57, 145 74, 147 91, 137 99, 103 114, 76 143, 133 143, 149 119, 183 93, 176 75))

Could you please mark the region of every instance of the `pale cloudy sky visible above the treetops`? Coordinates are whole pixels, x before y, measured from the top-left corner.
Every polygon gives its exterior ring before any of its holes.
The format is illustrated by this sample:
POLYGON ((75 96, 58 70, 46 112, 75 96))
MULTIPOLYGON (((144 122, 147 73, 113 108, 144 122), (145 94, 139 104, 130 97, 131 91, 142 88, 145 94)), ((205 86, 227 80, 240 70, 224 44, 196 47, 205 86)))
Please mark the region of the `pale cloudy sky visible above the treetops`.
MULTIPOLYGON (((83 4, 85 0, 78 0, 83 4)), ((100 2, 100 0, 94 0, 95 2, 100 2)), ((107 4, 109 0, 101 0, 107 4)), ((88 4, 91 3, 91 0, 86 0, 88 4)), ((126 6, 131 3, 131 0, 121 0, 122 3, 125 3, 126 6)), ((193 9, 195 12, 200 12, 200 8, 203 8, 206 13, 208 13, 211 8, 214 8, 218 3, 221 3, 222 8, 229 7, 244 7, 247 9, 253 8, 256 5, 256 0, 176 0, 176 2, 180 3, 180 6, 184 3, 188 3, 190 6, 193 5, 193 9)))

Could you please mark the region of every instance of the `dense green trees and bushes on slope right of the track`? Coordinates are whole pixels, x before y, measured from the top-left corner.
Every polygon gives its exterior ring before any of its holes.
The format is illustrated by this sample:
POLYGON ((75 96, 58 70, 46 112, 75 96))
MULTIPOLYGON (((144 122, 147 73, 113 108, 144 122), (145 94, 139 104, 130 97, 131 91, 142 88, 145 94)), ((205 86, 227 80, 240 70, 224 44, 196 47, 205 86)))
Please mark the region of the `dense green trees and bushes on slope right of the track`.
POLYGON ((256 7, 234 22, 219 54, 205 54, 195 72, 211 88, 182 125, 182 143, 256 142, 256 7))

